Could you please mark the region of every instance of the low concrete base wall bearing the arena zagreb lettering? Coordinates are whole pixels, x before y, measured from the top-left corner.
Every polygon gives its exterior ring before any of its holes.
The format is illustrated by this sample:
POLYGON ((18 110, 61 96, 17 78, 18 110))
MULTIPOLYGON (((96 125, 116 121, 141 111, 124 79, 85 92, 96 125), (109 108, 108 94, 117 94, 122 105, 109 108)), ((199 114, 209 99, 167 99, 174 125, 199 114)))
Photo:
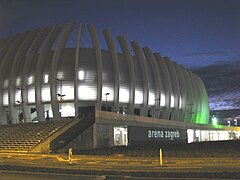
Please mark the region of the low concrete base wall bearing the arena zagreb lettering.
MULTIPOLYGON (((75 151, 113 147, 114 127, 118 126, 127 126, 129 131, 128 133, 134 133, 133 136, 137 136, 134 137, 133 140, 145 140, 145 142, 152 141, 153 143, 157 141, 186 142, 187 129, 239 131, 239 128, 234 129, 224 126, 212 127, 211 125, 200 125, 194 123, 184 123, 181 121, 122 115, 113 112, 96 110, 95 123, 86 129, 82 134, 77 136, 74 140, 72 140, 63 150, 67 152, 70 147, 75 151), (130 132, 131 128, 135 130, 130 132), (151 130, 151 132, 149 132, 149 130, 151 130), (159 135, 160 132, 163 132, 163 136, 159 135), (151 137, 149 137, 149 133, 151 133, 151 137), (145 139, 140 137, 143 135, 146 136, 145 139)), ((131 142, 131 139, 129 139, 129 142, 131 142)))

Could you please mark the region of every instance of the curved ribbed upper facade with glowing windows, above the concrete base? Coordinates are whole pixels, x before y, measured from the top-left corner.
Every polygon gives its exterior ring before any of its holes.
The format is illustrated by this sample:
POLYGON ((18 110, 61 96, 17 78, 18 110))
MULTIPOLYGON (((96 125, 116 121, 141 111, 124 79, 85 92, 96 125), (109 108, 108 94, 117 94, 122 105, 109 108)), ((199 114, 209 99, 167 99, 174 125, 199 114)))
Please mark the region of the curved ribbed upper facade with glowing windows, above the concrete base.
POLYGON ((105 29, 107 50, 88 26, 92 48, 81 46, 83 26, 73 22, 0 40, 1 123, 79 116, 79 108, 207 124, 202 80, 138 42, 105 29), (71 39, 72 33, 76 34, 71 39), (74 41, 74 47, 67 42, 74 41))

